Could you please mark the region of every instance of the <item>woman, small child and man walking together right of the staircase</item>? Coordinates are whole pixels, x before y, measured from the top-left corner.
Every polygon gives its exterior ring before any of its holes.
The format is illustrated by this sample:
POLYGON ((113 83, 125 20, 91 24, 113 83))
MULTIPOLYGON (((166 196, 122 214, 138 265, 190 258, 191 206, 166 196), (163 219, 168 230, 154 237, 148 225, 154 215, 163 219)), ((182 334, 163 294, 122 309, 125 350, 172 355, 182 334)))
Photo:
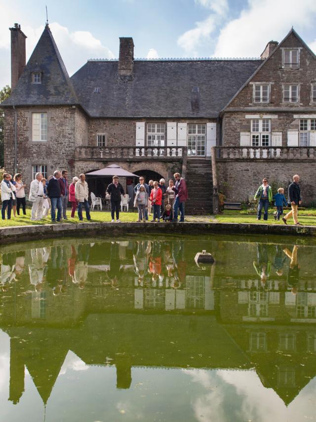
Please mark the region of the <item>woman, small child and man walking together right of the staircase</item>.
POLYGON ((287 207, 288 203, 291 206, 291 210, 282 217, 284 224, 287 224, 287 220, 292 216, 295 225, 301 225, 298 221, 298 207, 302 204, 301 189, 299 186, 300 176, 294 174, 293 182, 288 187, 288 201, 284 196, 284 188, 280 187, 277 189, 277 193, 273 195, 272 188, 268 183, 268 179, 264 177, 262 185, 259 186, 254 199, 259 200, 257 220, 261 219, 262 209, 264 209, 263 219, 268 220, 268 209, 270 203, 274 200, 276 211, 274 217, 276 220, 280 219, 283 214, 283 206, 287 207))

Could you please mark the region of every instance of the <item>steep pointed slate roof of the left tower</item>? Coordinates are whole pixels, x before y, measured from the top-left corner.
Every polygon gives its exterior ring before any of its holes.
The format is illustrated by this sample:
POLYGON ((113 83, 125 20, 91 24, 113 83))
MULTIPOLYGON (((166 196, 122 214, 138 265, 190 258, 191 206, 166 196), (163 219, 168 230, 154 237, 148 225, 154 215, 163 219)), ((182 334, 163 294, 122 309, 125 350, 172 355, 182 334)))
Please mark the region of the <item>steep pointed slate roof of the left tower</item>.
POLYGON ((78 104, 64 62, 48 26, 45 27, 7 105, 78 104), (41 84, 32 84, 32 72, 41 72, 41 84))

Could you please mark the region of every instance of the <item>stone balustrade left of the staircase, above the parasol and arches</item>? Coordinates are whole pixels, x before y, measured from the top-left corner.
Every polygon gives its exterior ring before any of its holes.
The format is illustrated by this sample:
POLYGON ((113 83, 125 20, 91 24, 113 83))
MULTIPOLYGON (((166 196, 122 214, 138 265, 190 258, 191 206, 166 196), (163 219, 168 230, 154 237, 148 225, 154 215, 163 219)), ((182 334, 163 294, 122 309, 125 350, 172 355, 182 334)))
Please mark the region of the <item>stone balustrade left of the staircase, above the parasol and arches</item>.
POLYGON ((186 147, 76 147, 76 160, 182 160, 186 147))

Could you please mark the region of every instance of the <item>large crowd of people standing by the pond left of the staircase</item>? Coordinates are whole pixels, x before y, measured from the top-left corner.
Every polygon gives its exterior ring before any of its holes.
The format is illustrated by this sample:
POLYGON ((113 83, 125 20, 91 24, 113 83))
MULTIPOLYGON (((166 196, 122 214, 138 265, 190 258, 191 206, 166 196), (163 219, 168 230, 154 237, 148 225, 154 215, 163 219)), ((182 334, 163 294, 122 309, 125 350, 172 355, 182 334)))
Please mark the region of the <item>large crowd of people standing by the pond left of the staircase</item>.
MULTIPOLYGON (((158 181, 150 180, 145 183, 145 178, 141 176, 139 183, 135 186, 134 206, 138 208, 138 221, 147 221, 148 215, 153 209, 153 219, 151 221, 178 221, 180 212, 180 222, 184 221, 184 204, 188 199, 187 185, 180 173, 174 174, 174 180, 170 179, 168 186, 161 178, 158 181)), ((17 173, 13 179, 9 173, 3 174, 0 184, 2 209, 1 216, 5 219, 11 218, 11 210, 20 215, 22 207, 23 215, 26 215, 26 184, 22 181, 22 174, 17 173)), ((112 222, 119 222, 119 208, 121 195, 125 197, 123 186, 118 181, 118 176, 113 176, 112 183, 106 189, 106 197, 111 203, 112 222)), ((78 207, 79 220, 82 221, 82 210, 84 208, 86 219, 91 220, 90 207, 88 202, 89 189, 85 181, 85 174, 80 174, 79 178, 74 177, 72 183, 68 181, 67 170, 56 170, 54 174, 46 180, 42 173, 38 172, 35 179, 30 184, 29 201, 32 203, 31 220, 37 221, 46 218, 50 210, 51 221, 60 222, 67 220, 68 202, 72 205, 71 217, 75 217, 78 207), (57 218, 56 218, 57 209, 57 218)))

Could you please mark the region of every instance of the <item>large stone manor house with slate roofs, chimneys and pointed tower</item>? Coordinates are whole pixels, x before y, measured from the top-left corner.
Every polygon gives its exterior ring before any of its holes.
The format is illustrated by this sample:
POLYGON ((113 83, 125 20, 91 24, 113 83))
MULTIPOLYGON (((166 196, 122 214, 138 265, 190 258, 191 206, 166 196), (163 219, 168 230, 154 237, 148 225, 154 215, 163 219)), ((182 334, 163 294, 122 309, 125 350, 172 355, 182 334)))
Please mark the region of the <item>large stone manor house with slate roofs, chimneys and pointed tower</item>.
POLYGON ((217 189, 247 201, 264 176, 286 189, 299 173, 314 199, 316 56, 294 29, 258 59, 134 59, 120 38, 118 60, 88 60, 71 78, 48 25, 27 64, 26 36, 10 31, 5 169, 27 184, 115 163, 147 181, 181 172, 187 212, 211 212, 217 189))

